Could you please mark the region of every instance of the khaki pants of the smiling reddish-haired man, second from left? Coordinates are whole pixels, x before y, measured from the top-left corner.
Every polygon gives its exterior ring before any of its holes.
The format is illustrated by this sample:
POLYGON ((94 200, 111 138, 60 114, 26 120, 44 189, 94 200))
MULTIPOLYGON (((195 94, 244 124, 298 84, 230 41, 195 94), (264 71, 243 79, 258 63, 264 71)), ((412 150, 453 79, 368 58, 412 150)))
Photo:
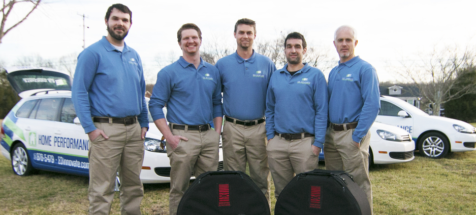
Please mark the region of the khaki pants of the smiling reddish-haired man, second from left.
MULTIPOLYGON (((173 123, 170 123, 172 126, 173 123)), ((170 159, 170 196, 169 214, 177 214, 178 204, 188 188, 192 172, 195 177, 218 168, 218 144, 220 135, 210 128, 205 132, 172 130, 188 141, 180 140, 177 148, 171 150, 167 144, 167 156, 170 159)))

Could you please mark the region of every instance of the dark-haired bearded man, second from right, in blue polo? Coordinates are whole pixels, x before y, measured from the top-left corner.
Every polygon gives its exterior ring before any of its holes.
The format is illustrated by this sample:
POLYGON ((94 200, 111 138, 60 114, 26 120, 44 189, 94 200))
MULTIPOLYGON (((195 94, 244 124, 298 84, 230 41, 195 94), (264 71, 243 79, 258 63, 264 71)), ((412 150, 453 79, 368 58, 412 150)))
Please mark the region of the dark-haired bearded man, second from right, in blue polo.
POLYGON ((302 34, 288 34, 288 63, 273 73, 266 95, 266 149, 276 199, 296 174, 318 167, 326 135, 326 78, 302 62, 306 50, 302 34))

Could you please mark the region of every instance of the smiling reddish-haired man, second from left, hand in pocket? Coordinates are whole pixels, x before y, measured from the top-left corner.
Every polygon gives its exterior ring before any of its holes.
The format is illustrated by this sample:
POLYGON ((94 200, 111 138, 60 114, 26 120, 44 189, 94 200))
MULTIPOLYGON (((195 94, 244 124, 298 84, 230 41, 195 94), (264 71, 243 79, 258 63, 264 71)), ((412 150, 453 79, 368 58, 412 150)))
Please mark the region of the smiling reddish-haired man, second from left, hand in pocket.
POLYGON ((183 56, 157 73, 149 109, 167 139, 170 158, 169 212, 188 188, 191 173, 199 176, 218 168, 221 123, 221 82, 218 70, 200 57, 202 32, 192 23, 177 32, 183 56), (167 121, 162 108, 167 104, 167 121), (215 131, 210 127, 214 124, 215 131))

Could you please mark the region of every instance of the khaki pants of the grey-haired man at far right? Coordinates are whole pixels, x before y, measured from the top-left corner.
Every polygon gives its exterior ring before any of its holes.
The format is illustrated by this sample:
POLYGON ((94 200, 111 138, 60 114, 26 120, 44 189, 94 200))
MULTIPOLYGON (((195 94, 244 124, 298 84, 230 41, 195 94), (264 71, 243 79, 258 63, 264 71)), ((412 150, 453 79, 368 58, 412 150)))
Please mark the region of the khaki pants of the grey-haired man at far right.
POLYGON ((351 175, 367 195, 372 209, 372 185, 368 173, 370 131, 360 142, 360 148, 357 148, 352 140, 353 133, 354 129, 336 132, 330 127, 327 128, 324 144, 326 169, 344 170, 351 175))

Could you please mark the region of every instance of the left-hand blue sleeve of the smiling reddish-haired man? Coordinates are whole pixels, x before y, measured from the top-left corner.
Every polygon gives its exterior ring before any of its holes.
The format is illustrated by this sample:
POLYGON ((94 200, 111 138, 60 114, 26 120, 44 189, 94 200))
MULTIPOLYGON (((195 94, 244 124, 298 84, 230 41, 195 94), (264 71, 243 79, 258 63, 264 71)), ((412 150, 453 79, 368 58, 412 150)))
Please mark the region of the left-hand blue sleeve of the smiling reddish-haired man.
POLYGON ((164 108, 170 98, 170 93, 172 92, 171 82, 171 78, 165 68, 157 73, 157 81, 149 101, 149 111, 154 121, 165 118, 162 108, 164 108))

